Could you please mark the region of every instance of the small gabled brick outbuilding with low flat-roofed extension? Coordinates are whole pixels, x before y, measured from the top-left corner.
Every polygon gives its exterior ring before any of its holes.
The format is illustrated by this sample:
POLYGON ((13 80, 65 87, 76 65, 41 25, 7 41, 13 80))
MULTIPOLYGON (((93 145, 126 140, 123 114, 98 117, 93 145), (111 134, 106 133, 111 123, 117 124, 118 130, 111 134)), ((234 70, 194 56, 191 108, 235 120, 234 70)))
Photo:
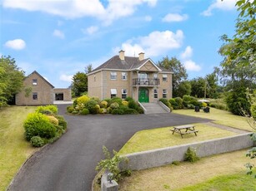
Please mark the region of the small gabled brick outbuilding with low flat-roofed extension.
POLYGON ((37 71, 23 81, 23 91, 15 96, 16 105, 52 105, 54 100, 71 100, 71 90, 56 88, 37 71), (26 95, 26 90, 27 95, 26 95))

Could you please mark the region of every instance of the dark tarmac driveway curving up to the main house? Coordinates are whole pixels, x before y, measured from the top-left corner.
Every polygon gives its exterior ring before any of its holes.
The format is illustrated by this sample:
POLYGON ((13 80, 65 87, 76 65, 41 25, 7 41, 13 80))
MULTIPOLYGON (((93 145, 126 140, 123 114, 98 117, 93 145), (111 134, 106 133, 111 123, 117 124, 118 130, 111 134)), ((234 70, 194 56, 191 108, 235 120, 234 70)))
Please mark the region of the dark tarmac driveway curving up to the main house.
MULTIPOLYGON (((185 115, 65 115, 68 132, 24 164, 10 190, 91 190, 95 167, 103 159, 102 147, 122 148, 138 130, 208 122, 185 115)), ((170 134, 171 135, 171 134, 170 134)))

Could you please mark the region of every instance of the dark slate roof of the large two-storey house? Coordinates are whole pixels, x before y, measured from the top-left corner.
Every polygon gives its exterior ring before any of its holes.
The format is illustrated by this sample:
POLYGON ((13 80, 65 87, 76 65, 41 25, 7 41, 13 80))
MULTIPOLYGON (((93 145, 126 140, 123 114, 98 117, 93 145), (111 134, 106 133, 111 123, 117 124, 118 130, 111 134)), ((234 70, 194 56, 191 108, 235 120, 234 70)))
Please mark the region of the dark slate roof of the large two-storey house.
MULTIPOLYGON (((153 61, 150 58, 143 59, 142 61, 139 61, 138 57, 132 57, 132 56, 124 56, 124 60, 121 60, 118 55, 113 56, 108 61, 104 62, 101 66, 98 66, 93 71, 91 71, 89 74, 94 73, 95 71, 100 71, 104 69, 115 69, 115 70, 125 70, 125 71, 133 71, 138 70, 141 66, 143 66, 147 61, 153 61)), ((158 71, 168 71, 164 68, 160 68, 155 63, 153 63, 154 66, 158 68, 158 71)), ((171 71, 168 71, 171 72, 171 71)))

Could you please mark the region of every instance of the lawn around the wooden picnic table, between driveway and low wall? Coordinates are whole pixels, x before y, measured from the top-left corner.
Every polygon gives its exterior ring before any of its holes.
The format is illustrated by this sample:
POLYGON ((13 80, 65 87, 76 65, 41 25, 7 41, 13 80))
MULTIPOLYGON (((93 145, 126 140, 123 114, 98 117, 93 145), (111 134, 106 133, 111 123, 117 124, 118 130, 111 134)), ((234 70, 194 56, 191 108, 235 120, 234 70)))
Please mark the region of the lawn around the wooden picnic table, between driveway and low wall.
POLYGON ((119 154, 136 153, 149 149, 159 149, 179 144, 188 144, 203 140, 213 140, 217 138, 236 135, 233 132, 218 129, 205 124, 195 124, 198 136, 194 134, 183 135, 183 139, 174 133, 172 127, 157 128, 153 130, 138 131, 133 137, 124 144, 119 154))

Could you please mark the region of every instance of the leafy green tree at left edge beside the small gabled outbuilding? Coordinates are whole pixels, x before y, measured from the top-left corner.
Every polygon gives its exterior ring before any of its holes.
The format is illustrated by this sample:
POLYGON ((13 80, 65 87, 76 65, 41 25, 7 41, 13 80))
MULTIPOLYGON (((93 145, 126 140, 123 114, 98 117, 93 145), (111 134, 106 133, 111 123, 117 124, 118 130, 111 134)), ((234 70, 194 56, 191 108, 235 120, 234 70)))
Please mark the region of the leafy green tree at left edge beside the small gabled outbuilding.
POLYGON ((23 88, 24 71, 11 56, 0 58, 0 105, 8 103, 23 88))

